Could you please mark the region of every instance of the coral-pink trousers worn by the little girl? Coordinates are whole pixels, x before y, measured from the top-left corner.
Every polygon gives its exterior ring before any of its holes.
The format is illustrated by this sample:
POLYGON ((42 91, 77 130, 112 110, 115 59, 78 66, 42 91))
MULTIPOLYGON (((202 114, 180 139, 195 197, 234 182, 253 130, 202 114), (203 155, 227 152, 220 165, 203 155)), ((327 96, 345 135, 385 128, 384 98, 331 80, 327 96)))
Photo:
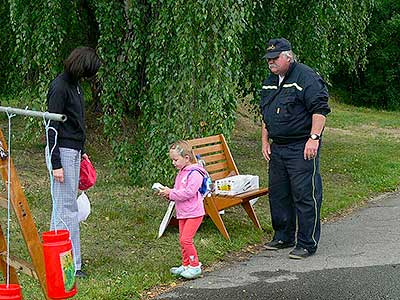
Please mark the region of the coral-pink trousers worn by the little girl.
POLYGON ((179 219, 179 243, 182 251, 182 265, 197 267, 199 258, 193 238, 203 221, 203 216, 192 219, 179 219))

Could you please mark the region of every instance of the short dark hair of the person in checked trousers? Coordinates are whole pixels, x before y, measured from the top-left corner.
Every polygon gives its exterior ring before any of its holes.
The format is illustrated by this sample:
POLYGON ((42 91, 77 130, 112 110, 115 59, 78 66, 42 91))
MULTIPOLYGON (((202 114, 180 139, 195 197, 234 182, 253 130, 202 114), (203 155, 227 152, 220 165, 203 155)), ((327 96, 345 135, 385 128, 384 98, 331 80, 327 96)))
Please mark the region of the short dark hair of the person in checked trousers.
POLYGON ((100 58, 90 47, 75 48, 64 62, 64 70, 77 79, 94 76, 100 66, 100 58))

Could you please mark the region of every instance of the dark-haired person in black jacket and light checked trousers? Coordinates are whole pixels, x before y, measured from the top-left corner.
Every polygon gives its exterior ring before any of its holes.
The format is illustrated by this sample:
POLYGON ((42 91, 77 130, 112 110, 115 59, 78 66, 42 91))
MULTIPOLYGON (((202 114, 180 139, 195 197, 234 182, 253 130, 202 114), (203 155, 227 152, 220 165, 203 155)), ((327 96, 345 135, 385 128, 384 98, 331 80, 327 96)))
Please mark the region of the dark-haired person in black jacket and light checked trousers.
POLYGON ((94 76, 100 68, 100 59, 92 48, 74 49, 64 62, 64 72, 50 85, 47 94, 48 111, 64 114, 64 123, 52 121, 49 131, 49 151, 53 174, 53 212, 51 229, 70 232, 77 277, 81 270, 81 246, 78 221, 78 183, 81 157, 87 157, 84 145, 85 100, 79 84, 82 78, 94 76))

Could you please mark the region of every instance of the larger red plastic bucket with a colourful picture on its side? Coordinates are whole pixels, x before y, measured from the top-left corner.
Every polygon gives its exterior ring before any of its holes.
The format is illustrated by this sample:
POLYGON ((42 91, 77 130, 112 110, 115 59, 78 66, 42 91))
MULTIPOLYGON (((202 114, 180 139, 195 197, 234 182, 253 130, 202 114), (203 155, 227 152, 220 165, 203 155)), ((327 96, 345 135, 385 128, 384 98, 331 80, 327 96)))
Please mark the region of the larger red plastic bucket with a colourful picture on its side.
POLYGON ((75 266, 68 230, 43 232, 47 295, 65 299, 76 294, 75 266))

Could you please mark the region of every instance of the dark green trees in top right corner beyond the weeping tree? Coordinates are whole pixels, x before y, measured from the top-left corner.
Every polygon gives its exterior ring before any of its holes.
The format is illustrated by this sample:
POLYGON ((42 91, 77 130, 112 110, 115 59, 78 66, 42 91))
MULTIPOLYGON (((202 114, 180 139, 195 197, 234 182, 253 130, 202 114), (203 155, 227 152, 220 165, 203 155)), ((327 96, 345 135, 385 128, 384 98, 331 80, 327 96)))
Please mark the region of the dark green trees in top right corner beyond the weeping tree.
POLYGON ((371 47, 359 76, 341 81, 356 105, 400 109, 400 2, 377 1, 367 28, 371 47))

